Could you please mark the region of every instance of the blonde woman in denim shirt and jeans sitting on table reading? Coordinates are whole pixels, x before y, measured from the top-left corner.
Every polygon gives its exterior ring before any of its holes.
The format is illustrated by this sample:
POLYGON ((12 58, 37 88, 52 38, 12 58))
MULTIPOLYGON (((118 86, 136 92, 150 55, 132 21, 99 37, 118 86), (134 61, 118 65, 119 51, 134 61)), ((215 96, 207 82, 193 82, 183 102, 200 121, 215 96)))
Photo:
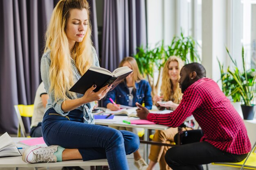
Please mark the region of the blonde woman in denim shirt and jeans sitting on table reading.
POLYGON ((93 85, 84 95, 69 92, 91 65, 99 66, 89 15, 86 0, 60 0, 54 8, 41 59, 42 80, 49 94, 42 122, 48 147, 27 148, 22 155, 27 163, 107 158, 111 170, 128 170, 126 155, 139 148, 137 135, 94 124, 94 101, 101 100, 111 86, 93 92, 93 85))

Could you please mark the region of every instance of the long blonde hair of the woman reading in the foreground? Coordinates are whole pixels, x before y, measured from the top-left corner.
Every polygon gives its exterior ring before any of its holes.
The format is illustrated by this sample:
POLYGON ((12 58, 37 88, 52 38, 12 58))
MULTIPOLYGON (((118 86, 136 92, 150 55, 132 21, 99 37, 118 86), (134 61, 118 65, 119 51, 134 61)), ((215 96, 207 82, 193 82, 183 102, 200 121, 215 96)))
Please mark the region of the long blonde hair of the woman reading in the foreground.
POLYGON ((51 51, 49 70, 51 85, 49 92, 54 92, 55 99, 76 98, 75 93, 68 91, 74 85, 72 58, 81 75, 90 68, 93 61, 90 20, 83 41, 76 42, 74 48, 71 51, 69 50, 65 26, 71 9, 86 9, 88 19, 90 18, 89 4, 86 0, 60 0, 53 10, 45 34, 45 52, 51 51))

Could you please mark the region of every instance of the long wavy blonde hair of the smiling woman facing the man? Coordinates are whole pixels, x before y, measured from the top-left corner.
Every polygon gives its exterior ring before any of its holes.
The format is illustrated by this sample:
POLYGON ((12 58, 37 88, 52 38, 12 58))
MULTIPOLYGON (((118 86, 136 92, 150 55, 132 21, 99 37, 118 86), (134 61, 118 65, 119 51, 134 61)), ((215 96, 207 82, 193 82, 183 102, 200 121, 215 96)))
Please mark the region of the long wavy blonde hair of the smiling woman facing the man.
MULTIPOLYGON (((182 92, 180 89, 180 84, 177 83, 176 90, 175 90, 175 92, 173 92, 173 83, 171 82, 171 79, 168 74, 168 70, 169 70, 168 66, 171 63, 171 61, 177 61, 178 67, 179 67, 179 72, 184 65, 183 61, 179 57, 176 57, 176 56, 171 56, 166 61, 166 63, 164 64, 164 69, 163 69, 161 94, 163 95, 164 101, 172 100, 174 103, 179 104, 182 99, 182 92)), ((179 74, 179 78, 180 78, 180 74, 179 74)))

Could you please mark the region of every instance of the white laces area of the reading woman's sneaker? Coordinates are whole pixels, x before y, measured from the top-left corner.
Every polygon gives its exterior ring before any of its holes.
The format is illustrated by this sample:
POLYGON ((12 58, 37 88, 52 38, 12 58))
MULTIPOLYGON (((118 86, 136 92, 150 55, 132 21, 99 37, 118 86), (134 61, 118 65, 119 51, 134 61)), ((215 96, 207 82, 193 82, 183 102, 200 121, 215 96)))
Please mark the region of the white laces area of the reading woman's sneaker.
POLYGON ((33 159, 33 160, 35 160, 35 162, 47 162, 47 163, 53 162, 54 161, 53 154, 55 151, 56 149, 36 151, 36 153, 34 153, 34 156, 36 156, 36 159, 33 159))

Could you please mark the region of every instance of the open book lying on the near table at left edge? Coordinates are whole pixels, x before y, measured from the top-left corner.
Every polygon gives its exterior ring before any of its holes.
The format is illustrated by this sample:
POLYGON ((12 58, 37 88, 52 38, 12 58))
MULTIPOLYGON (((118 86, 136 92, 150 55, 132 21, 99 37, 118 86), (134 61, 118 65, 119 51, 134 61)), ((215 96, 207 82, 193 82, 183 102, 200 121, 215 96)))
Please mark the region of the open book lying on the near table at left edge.
POLYGON ((0 157, 7 156, 21 156, 21 154, 11 137, 5 132, 0 136, 0 157))

